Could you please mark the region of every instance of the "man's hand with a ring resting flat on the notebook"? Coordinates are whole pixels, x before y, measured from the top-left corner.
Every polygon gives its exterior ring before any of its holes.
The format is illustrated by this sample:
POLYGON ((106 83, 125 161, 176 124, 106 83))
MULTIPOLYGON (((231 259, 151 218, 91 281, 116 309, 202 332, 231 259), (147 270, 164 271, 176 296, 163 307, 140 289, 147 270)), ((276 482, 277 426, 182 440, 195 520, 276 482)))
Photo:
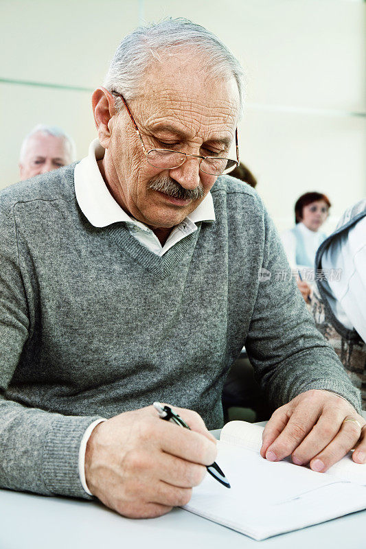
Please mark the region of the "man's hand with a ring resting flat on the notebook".
POLYGON ((291 456, 296 465, 310 463, 311 469, 323 472, 353 448, 354 462, 365 463, 365 419, 342 397, 313 389, 273 413, 260 454, 269 461, 291 456))

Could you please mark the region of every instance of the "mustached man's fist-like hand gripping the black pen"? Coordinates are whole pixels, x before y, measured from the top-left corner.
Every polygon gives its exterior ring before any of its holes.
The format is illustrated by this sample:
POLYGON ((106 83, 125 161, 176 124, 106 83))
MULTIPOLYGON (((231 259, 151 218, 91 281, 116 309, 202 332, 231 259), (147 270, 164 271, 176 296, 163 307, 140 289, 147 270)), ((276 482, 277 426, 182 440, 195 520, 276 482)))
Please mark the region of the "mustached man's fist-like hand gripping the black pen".
POLYGON ((162 421, 148 406, 124 412, 91 433, 85 454, 89 490, 130 518, 157 517, 190 501, 192 487, 216 459, 216 441, 203 419, 173 407, 191 430, 162 421))

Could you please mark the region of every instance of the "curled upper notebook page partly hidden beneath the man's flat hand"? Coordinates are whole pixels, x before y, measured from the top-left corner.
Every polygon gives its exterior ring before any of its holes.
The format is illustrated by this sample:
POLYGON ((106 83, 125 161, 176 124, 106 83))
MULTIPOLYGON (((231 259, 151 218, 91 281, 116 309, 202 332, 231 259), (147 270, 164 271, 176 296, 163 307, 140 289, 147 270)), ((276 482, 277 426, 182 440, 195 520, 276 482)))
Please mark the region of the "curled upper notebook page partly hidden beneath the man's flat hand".
MULTIPOLYGON (((232 445, 239 445, 259 452, 262 446, 262 432, 264 428, 260 425, 253 425, 247 421, 229 421, 222 428, 220 441, 232 445)), ((366 464, 354 463, 352 452, 335 463, 327 471, 327 474, 334 475, 341 480, 356 482, 366 486, 366 464)))

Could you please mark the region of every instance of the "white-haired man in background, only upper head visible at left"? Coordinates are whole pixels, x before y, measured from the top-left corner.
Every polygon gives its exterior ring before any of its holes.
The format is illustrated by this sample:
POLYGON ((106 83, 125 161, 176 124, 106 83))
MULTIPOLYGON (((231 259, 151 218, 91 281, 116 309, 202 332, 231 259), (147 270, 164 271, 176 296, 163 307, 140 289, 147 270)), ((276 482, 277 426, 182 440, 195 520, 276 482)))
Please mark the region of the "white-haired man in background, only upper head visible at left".
POLYGON ((67 166, 76 159, 75 143, 57 126, 38 124, 21 145, 19 172, 24 181, 67 166))

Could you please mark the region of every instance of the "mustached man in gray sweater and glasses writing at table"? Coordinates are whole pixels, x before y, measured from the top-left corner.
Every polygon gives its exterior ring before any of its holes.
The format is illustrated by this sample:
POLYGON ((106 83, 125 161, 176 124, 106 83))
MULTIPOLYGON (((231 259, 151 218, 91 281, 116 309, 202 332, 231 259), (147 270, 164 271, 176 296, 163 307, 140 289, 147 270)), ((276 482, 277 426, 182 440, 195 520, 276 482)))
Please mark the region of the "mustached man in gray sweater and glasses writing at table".
POLYGON ((262 456, 324 471, 358 445, 364 460, 360 395, 277 277, 260 198, 225 176, 241 108, 216 36, 181 19, 137 29, 93 94, 89 156, 2 192, 1 486, 128 517, 185 504, 244 343, 280 406, 262 456))

